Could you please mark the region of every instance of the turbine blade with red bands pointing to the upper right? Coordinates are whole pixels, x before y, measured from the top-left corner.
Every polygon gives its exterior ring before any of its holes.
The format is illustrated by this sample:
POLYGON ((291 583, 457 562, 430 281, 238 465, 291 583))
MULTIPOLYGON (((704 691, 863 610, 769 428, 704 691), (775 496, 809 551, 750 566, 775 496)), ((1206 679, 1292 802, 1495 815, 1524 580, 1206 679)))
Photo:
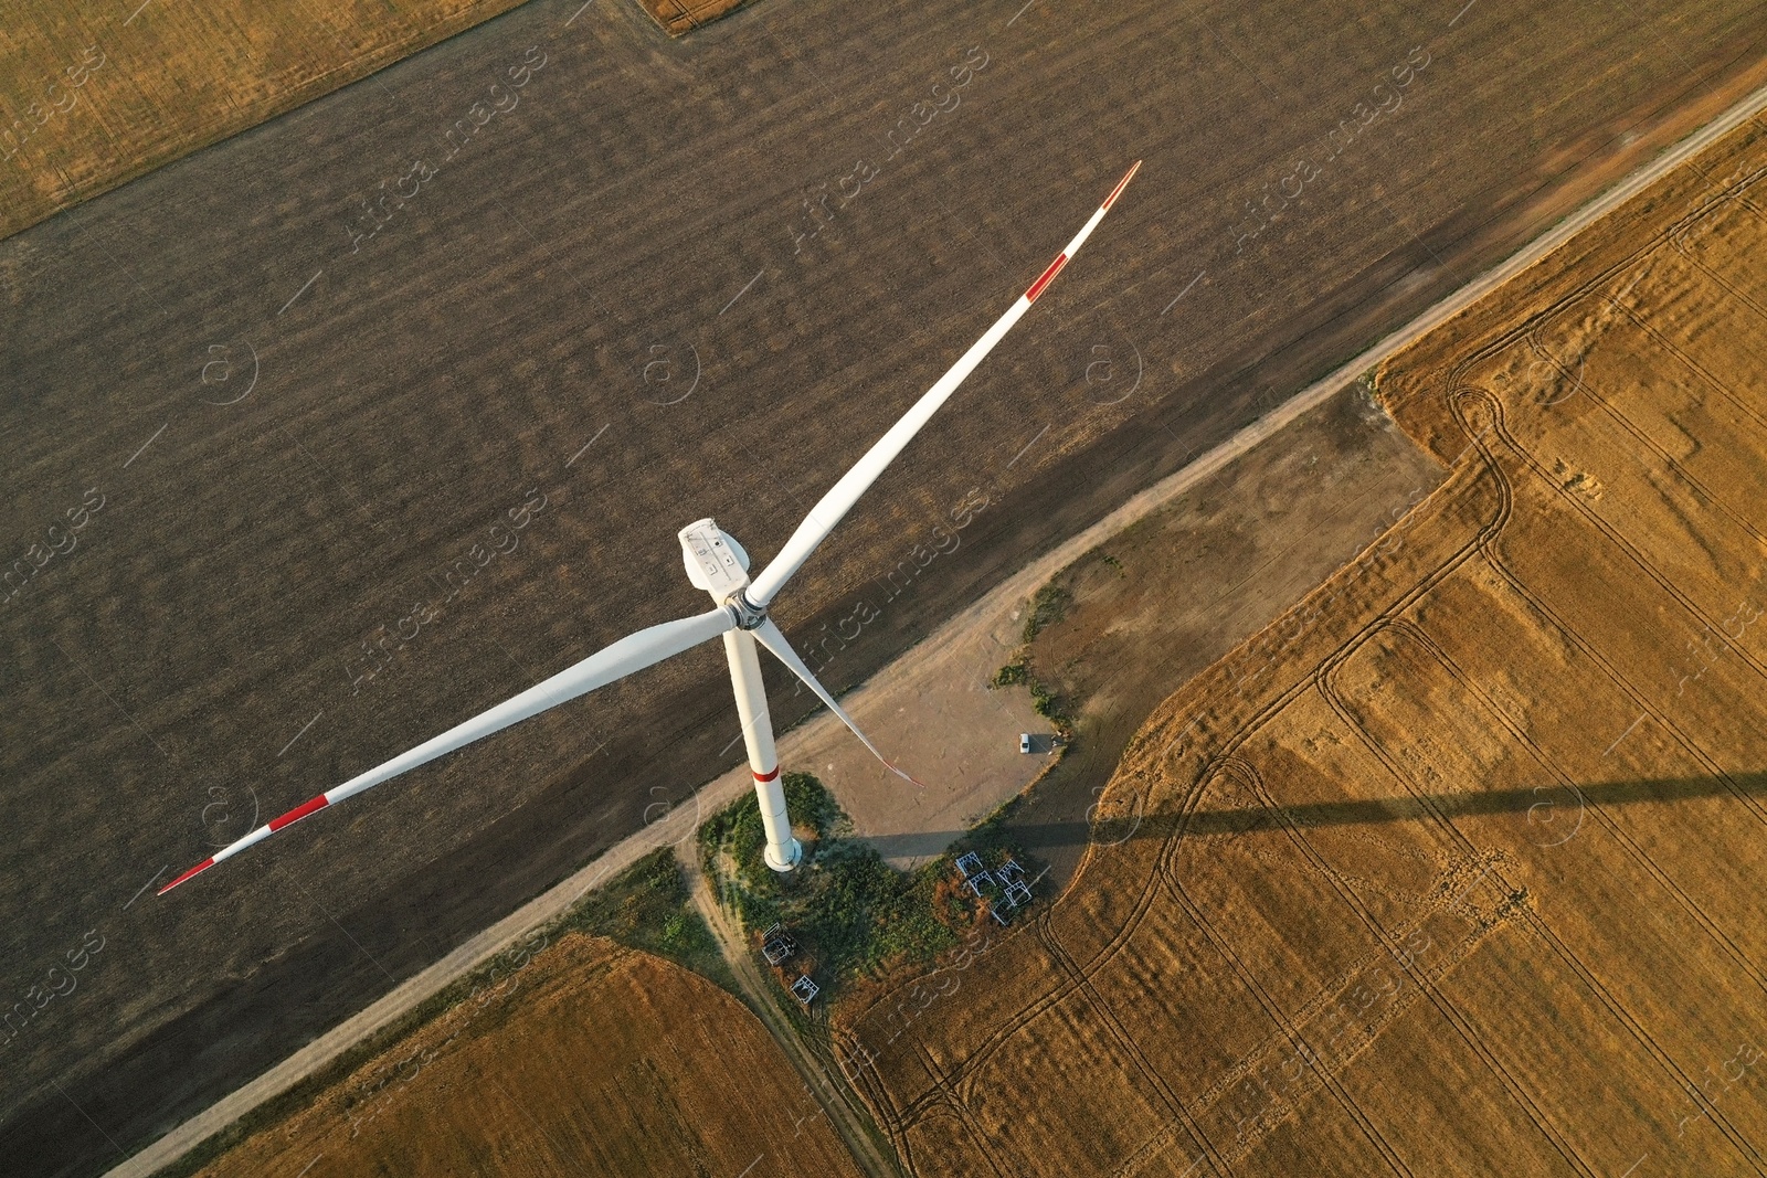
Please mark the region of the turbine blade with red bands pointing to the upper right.
POLYGON ((958 385, 961 385, 963 380, 975 371, 982 359, 993 351, 993 346, 1000 343, 1009 330, 1012 330, 1012 325, 1018 323, 1027 311, 1030 311, 1030 304, 1037 302, 1037 297, 1050 288, 1050 283, 1053 283, 1055 276, 1062 272, 1062 267, 1073 261, 1073 256, 1080 253, 1087 237, 1090 237, 1099 221, 1104 219, 1110 207, 1117 203, 1117 198, 1122 196, 1122 191, 1129 185, 1129 180, 1134 178, 1134 173, 1140 171, 1140 168, 1141 161, 1134 161, 1134 168, 1129 168, 1129 175, 1117 182, 1117 187, 1104 198, 1104 203, 1092 214, 1092 219, 1081 226, 1080 233, 1074 235, 1074 240, 1067 242, 1067 249, 1055 256, 1055 261, 1051 261, 1043 276, 1030 284, 1030 290, 1020 295, 1018 302, 1014 302, 1012 307, 1002 314, 998 321, 995 321, 995 325, 990 327, 988 332, 977 339, 956 364, 951 366, 951 371, 940 376, 938 383, 928 389, 926 394, 914 403, 914 408, 903 413, 901 420, 891 426, 889 433, 885 433, 876 445, 866 450, 866 456, 861 457, 852 470, 841 475, 841 480, 822 496, 822 500, 809 510, 809 516, 804 517, 804 523, 797 525, 797 532, 793 532, 792 539, 785 542, 779 555, 774 556, 772 562, 762 569, 760 576, 749 583, 749 600, 756 606, 767 606, 774 595, 785 588, 785 583, 792 579, 792 574, 797 572, 806 560, 809 560, 809 555, 816 551, 816 546, 827 539, 829 532, 834 530, 834 525, 838 525, 841 517, 852 510, 853 503, 859 502, 859 496, 864 495, 866 489, 876 482, 878 475, 882 475, 884 470, 896 459, 896 456, 901 454, 903 447, 906 447, 914 434, 921 431, 921 426, 924 426, 928 419, 938 412, 938 406, 942 406, 951 394, 956 392, 958 385))

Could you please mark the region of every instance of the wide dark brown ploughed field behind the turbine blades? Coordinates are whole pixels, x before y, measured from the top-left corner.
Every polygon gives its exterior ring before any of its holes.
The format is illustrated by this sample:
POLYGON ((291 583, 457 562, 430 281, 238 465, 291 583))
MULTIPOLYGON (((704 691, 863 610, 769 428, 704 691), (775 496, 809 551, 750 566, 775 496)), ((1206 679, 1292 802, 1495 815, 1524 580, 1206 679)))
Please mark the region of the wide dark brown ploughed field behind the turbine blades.
POLYGON ((0 1155, 120 1160, 732 765, 701 652, 140 897, 703 608, 673 530, 770 555, 1126 159, 1110 235, 783 600, 832 687, 1726 106, 1767 34, 1447 7, 749 5, 670 42, 535 0, 0 242, 0 1155))

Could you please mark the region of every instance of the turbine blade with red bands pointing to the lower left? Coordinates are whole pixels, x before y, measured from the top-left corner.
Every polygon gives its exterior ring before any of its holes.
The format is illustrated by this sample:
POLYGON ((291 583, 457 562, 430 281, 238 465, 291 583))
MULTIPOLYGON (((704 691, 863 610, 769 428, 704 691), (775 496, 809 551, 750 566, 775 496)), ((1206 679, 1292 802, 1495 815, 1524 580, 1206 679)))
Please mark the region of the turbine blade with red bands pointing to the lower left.
POLYGON ((627 634, 611 646, 597 650, 576 666, 565 668, 551 678, 528 687, 519 696, 512 696, 495 708, 456 724, 440 736, 431 736, 410 752, 401 752, 385 765, 376 765, 366 774, 343 782, 336 789, 329 789, 316 798, 302 802, 281 818, 270 819, 269 825, 258 827, 244 839, 224 846, 210 858, 205 858, 166 887, 159 888, 159 895, 164 895, 191 876, 209 871, 221 860, 231 858, 256 842, 263 842, 283 827, 290 827, 307 814, 315 814, 327 805, 336 805, 348 797, 378 786, 389 777, 398 777, 405 770, 417 768, 419 765, 433 761, 438 756, 463 749, 482 736, 502 731, 511 724, 528 719, 530 715, 539 715, 541 712, 565 703, 567 699, 576 699, 578 696, 595 691, 597 687, 606 687, 613 680, 626 678, 633 671, 641 671, 647 666, 663 662, 671 655, 679 655, 684 650, 717 638, 724 631, 735 629, 735 615, 719 606, 717 609, 710 609, 691 618, 677 618, 673 622, 664 622, 663 625, 652 625, 638 631, 636 634, 627 634))

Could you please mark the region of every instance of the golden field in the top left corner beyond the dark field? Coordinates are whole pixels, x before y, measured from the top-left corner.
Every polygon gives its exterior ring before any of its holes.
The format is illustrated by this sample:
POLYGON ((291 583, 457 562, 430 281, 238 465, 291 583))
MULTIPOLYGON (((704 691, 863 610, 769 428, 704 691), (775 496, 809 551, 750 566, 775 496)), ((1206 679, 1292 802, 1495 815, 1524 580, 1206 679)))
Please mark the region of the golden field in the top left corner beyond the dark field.
POLYGON ((14 0, 0 25, 0 238, 519 2, 14 0))

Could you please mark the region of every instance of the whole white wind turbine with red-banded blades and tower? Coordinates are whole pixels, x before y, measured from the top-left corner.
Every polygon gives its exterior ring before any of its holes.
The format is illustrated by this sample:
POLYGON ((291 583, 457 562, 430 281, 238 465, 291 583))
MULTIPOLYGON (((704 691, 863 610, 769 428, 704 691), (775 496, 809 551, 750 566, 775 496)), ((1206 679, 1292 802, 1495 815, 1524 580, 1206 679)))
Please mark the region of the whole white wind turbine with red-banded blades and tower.
POLYGON ((903 447, 921 431, 921 426, 938 412, 963 378, 975 371, 975 366, 993 351, 993 346, 1012 330, 1030 304, 1037 302, 1037 297, 1050 288, 1055 276, 1062 272, 1062 267, 1080 253, 1080 245, 1085 244, 1092 230, 1097 228, 1110 207, 1117 203, 1122 191, 1140 171, 1141 161, 1136 161, 1129 173, 1111 189, 1104 203, 1092 214, 1092 219, 1081 226, 1074 240, 1067 242, 1067 249, 1055 256, 1044 272, 1037 277, 1030 288, 1018 297, 1018 300, 1002 314, 993 327, 977 339, 963 357, 951 366, 938 383, 926 390, 919 401, 914 403, 901 420, 891 426, 876 445, 866 450, 866 456, 853 464, 841 480, 836 482, 827 495, 811 509, 804 523, 797 525, 797 532, 792 539, 785 542, 779 555, 760 570, 760 576, 749 578, 749 558, 737 544, 735 537, 717 526, 712 519, 696 519, 694 523, 682 528, 677 535, 680 539, 682 560, 687 565, 687 579, 693 581, 696 588, 705 590, 712 595, 716 608, 694 615, 691 618, 677 618, 675 622, 664 622, 661 625, 652 625, 636 634, 627 634, 611 646, 597 650, 590 657, 583 659, 573 668, 558 671, 548 680, 528 687, 519 696, 505 699, 504 703, 481 712, 479 715, 456 724, 440 736, 433 736, 424 744, 417 745, 408 752, 401 752, 385 765, 376 765, 375 768, 352 777, 341 786, 329 789, 316 798, 302 802, 295 809, 288 811, 281 818, 270 819, 269 825, 258 827, 246 837, 231 842, 203 862, 196 864, 182 876, 159 888, 159 895, 164 895, 171 888, 178 887, 191 876, 203 872, 221 860, 233 858, 249 846, 263 842, 277 830, 292 827, 309 814, 336 805, 345 798, 355 797, 364 789, 378 786, 380 782, 398 777, 405 770, 417 768, 428 761, 436 759, 445 752, 470 745, 482 736, 502 731, 518 721, 525 721, 530 715, 537 715, 548 708, 555 708, 567 699, 576 699, 581 694, 595 691, 597 687, 606 687, 608 683, 624 678, 634 671, 641 671, 647 666, 663 662, 673 655, 691 650, 700 643, 707 643, 714 638, 724 639, 724 655, 730 659, 730 682, 737 691, 737 714, 742 717, 742 740, 749 752, 749 772, 755 775, 755 793, 760 797, 762 804, 762 823, 767 828, 767 865, 774 871, 792 871, 802 855, 802 846, 792 837, 792 821, 786 814, 785 805, 785 788, 779 782, 779 758, 774 752, 772 740, 772 721, 767 715, 767 692, 762 687, 762 666, 760 655, 755 645, 765 646, 779 662, 786 664, 793 675, 797 675, 804 683, 816 692, 816 698, 829 705, 843 724, 853 729, 853 735, 864 742, 866 749, 871 751, 891 772, 914 781, 899 768, 891 765, 876 745, 866 738, 859 726, 853 724, 852 717, 834 701, 834 696, 816 682, 816 676, 804 666, 804 661, 797 657, 786 643, 785 634, 774 625, 772 618, 767 616, 767 608, 772 599, 779 595, 792 574, 797 572, 809 555, 816 551, 834 530, 834 526, 852 510, 859 496, 866 493, 884 468, 901 454, 903 447))

